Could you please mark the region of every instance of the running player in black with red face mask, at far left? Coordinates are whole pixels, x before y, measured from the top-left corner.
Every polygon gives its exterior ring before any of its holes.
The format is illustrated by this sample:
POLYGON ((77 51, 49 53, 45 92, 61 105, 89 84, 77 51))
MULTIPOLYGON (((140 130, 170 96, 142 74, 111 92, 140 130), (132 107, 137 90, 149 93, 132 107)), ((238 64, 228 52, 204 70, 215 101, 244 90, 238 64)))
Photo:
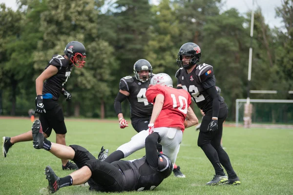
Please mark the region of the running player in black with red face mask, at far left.
MULTIPOLYGON (((81 42, 71 41, 64 49, 64 56, 54 55, 42 74, 36 79, 36 113, 40 114, 45 137, 50 137, 52 129, 56 133, 56 142, 66 145, 65 134, 67 132, 64 123, 64 116, 58 99, 61 94, 68 101, 71 94, 63 89, 63 85, 70 77, 71 69, 74 66, 84 67, 85 47, 81 42), (45 82, 44 82, 45 81, 45 82)), ((2 153, 6 157, 9 148, 21 141, 33 140, 31 131, 16 137, 2 138, 2 153)), ((36 145, 38 148, 40 146, 36 145)), ((77 169, 77 166, 67 159, 62 159, 62 168, 77 169)))

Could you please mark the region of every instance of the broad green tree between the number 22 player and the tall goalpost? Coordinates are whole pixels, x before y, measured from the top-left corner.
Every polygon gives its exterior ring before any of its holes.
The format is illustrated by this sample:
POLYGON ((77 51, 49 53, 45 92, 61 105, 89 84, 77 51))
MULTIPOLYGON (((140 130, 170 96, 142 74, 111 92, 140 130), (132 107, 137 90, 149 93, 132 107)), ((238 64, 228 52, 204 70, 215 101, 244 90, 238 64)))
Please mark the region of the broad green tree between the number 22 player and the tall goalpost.
POLYGON ((245 19, 237 10, 230 9, 217 17, 207 17, 204 26, 201 63, 213 66, 216 85, 229 105, 233 117, 235 100, 246 92, 248 70, 249 29, 244 28, 245 19), (229 76, 228 76, 229 75, 229 76))

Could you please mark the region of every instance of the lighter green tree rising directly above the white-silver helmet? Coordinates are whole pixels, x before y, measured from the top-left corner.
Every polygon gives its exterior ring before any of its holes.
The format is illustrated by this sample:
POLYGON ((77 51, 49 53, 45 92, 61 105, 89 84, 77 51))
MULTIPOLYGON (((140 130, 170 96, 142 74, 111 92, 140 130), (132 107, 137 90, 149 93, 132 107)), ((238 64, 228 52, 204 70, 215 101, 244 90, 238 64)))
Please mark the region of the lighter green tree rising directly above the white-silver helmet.
POLYGON ((154 73, 164 72, 174 76, 179 68, 176 64, 179 48, 174 41, 180 33, 179 21, 170 0, 162 0, 158 6, 153 6, 152 13, 154 22, 149 30, 145 58, 152 64, 154 73))

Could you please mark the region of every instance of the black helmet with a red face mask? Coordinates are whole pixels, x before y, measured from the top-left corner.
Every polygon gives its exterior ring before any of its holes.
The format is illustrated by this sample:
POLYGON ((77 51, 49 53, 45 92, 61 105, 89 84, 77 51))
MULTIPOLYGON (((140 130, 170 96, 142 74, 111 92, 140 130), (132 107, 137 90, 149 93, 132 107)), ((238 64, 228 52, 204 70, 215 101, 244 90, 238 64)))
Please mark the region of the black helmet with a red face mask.
POLYGON ((78 41, 70 41, 65 49, 64 54, 78 68, 83 68, 85 64, 85 47, 83 43, 78 41))

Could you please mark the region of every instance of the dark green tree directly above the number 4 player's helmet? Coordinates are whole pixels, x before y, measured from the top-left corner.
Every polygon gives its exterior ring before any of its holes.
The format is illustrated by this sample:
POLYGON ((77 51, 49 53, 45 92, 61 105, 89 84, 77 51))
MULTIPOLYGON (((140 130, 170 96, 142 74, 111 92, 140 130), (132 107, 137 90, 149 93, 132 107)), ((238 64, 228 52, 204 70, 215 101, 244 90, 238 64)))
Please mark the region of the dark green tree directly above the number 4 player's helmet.
POLYGON ((153 24, 150 8, 148 0, 117 0, 114 4, 117 39, 112 45, 121 62, 120 78, 133 72, 135 61, 146 57, 144 47, 149 40, 147 32, 153 24))

